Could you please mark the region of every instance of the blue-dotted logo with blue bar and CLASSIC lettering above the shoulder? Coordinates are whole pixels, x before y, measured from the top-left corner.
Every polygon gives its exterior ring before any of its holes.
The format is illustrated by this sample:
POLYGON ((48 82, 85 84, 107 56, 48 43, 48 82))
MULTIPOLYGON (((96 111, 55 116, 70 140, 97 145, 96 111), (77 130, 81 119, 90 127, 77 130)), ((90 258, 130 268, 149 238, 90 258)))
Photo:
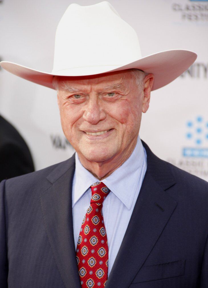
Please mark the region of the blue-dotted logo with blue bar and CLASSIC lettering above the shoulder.
POLYGON ((167 161, 208 181, 208 117, 198 115, 184 123, 184 143, 181 157, 167 161))

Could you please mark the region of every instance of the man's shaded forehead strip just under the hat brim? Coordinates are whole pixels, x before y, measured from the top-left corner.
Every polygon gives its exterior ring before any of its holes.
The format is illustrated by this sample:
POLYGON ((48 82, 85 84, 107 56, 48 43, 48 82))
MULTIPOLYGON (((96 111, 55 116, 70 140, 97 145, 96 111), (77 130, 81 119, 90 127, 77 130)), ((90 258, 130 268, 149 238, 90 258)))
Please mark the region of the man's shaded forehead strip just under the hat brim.
MULTIPOLYGON (((62 77, 60 84, 67 83, 67 86, 72 88, 108 88, 118 86, 119 88, 126 88, 132 82, 131 71, 123 70, 110 72, 94 76, 85 77, 62 77), (121 84, 121 85, 119 85, 121 84)), ((59 85, 59 88, 64 88, 63 85, 59 85)))

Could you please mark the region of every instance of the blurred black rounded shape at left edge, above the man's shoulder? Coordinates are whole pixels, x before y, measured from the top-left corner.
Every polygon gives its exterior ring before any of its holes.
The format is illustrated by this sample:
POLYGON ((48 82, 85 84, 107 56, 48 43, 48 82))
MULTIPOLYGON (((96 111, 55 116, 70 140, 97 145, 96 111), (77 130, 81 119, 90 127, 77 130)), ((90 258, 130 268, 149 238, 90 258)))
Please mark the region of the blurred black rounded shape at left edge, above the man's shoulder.
POLYGON ((33 171, 33 159, 25 141, 0 115, 0 181, 33 171))

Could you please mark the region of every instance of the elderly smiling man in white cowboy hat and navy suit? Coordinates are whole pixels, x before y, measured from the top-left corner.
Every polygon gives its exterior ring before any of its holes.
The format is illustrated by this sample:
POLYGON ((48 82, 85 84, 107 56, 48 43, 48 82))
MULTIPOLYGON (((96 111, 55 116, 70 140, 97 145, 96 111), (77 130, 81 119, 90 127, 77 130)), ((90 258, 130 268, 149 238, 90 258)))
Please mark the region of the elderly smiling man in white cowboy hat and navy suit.
POLYGON ((57 90, 76 150, 1 183, 2 288, 208 287, 208 184, 138 136, 150 91, 195 58, 187 50, 142 58, 135 31, 102 2, 69 6, 52 73, 1 62, 57 90))

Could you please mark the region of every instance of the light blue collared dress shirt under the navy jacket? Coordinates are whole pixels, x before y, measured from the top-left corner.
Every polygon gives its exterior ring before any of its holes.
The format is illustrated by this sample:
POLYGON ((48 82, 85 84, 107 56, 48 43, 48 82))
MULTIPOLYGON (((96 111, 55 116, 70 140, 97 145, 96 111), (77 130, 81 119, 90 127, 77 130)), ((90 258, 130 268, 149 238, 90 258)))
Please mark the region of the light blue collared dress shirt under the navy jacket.
MULTIPOLYGON (((76 168, 72 184, 72 213, 75 248, 82 220, 90 205, 90 186, 99 181, 85 169, 76 153, 76 168)), ((110 189, 103 202, 103 218, 108 238, 108 276, 121 246, 134 205, 146 173, 146 151, 138 136, 131 156, 102 182, 110 189)))

